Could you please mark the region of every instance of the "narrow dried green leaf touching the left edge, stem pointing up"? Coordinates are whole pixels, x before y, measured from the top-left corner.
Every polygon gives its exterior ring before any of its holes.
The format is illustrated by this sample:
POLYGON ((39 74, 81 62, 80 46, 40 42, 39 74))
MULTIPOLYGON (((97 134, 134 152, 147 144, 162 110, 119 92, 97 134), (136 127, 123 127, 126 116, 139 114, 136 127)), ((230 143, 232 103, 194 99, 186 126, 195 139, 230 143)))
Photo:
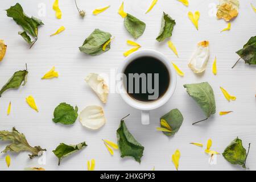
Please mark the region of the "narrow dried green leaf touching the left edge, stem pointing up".
POLYGON ((24 86, 27 82, 27 74, 27 70, 15 72, 14 75, 7 81, 7 83, 3 85, 2 89, 0 90, 0 97, 2 93, 8 89, 18 89, 22 82, 24 82, 24 86))

